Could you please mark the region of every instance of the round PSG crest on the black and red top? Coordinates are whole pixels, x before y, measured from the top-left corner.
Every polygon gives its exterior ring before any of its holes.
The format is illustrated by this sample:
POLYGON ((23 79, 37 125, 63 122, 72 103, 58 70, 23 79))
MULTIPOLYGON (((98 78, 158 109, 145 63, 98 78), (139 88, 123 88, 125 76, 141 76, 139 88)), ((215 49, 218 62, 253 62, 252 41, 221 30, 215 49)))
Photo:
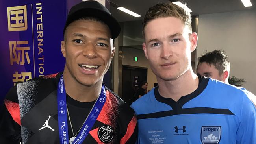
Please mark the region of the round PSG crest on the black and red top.
POLYGON ((114 131, 111 126, 105 125, 98 129, 98 137, 100 138, 100 141, 104 143, 111 142, 114 136, 114 131))

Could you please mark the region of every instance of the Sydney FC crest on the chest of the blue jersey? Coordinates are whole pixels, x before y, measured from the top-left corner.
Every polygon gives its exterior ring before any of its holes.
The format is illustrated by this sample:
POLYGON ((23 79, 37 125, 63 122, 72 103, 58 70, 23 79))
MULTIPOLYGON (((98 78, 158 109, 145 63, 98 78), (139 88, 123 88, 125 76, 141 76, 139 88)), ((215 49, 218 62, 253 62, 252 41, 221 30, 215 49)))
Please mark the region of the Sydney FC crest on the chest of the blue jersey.
POLYGON ((221 126, 202 126, 202 144, 219 144, 221 140, 221 126))

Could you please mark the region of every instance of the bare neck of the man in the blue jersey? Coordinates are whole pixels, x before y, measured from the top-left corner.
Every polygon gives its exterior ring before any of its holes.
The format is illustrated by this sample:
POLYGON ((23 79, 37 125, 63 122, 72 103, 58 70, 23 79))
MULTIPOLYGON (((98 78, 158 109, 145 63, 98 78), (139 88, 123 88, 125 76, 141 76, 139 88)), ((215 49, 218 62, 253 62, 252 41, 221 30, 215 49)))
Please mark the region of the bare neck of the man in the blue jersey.
POLYGON ((157 77, 159 93, 165 98, 171 98, 178 101, 182 96, 186 96, 195 91, 198 87, 198 77, 190 68, 179 78, 171 81, 165 81, 157 77))

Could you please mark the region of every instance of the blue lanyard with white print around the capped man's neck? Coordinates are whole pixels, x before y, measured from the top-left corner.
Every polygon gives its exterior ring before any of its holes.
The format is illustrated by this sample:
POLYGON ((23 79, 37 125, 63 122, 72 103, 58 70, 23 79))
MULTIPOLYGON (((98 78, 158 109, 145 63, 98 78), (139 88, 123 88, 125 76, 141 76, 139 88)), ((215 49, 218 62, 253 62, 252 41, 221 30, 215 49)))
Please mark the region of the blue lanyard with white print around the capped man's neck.
MULTIPOLYGON (((82 144, 83 140, 89 134, 89 131, 96 122, 104 103, 106 102, 106 90, 102 84, 100 96, 96 100, 91 112, 87 116, 83 126, 81 127, 77 137, 72 144, 82 144)), ((63 74, 59 79, 57 89, 58 103, 58 125, 59 125, 59 141, 61 144, 69 144, 68 122, 67 122, 67 106, 66 106, 66 90, 63 81, 63 74)))

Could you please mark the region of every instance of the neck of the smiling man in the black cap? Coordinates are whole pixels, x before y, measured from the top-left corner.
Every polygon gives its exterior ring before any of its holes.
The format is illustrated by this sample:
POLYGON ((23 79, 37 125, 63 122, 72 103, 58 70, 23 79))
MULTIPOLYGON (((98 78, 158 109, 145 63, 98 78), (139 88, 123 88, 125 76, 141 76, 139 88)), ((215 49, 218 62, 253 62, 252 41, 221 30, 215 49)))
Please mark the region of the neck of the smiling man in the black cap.
POLYGON ((66 93, 74 100, 80 102, 92 102, 96 100, 101 92, 103 81, 102 79, 101 81, 95 83, 95 85, 91 86, 83 85, 76 81, 66 67, 63 72, 63 80, 66 93))

